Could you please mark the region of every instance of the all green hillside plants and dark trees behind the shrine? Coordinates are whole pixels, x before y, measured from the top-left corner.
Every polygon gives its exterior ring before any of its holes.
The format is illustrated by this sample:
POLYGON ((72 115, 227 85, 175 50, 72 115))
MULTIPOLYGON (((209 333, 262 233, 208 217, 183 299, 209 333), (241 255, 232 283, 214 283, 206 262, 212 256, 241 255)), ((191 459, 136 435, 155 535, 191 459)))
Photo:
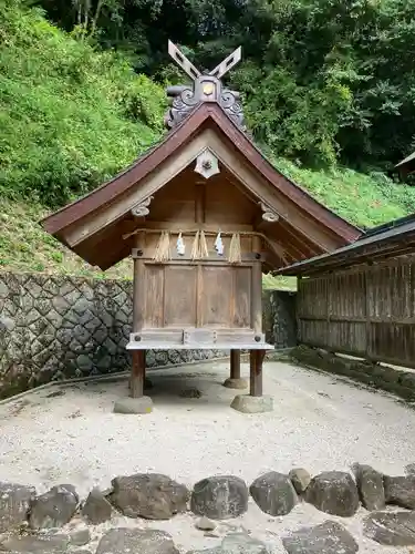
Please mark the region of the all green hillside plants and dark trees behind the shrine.
POLYGON ((380 170, 413 140, 415 0, 29 3, 0 0, 0 269, 100 275, 38 220, 160 137, 160 83, 183 79, 168 38, 208 69, 242 43, 230 84, 257 142, 326 206, 361 226, 413 212, 415 187, 380 170))

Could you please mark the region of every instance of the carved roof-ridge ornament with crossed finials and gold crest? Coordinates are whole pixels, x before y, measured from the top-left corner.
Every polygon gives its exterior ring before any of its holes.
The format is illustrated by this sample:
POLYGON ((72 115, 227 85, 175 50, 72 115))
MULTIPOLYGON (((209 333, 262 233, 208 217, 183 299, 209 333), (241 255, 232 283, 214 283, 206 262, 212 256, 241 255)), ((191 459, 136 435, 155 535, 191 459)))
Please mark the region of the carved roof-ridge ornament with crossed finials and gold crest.
POLYGON ((241 48, 237 48, 219 65, 205 74, 196 69, 172 41, 168 41, 168 53, 193 80, 193 83, 190 85, 169 86, 167 89, 172 107, 168 110, 165 119, 166 126, 173 129, 201 102, 217 102, 225 113, 245 131, 240 94, 239 92, 224 89, 220 81, 240 61, 241 48))

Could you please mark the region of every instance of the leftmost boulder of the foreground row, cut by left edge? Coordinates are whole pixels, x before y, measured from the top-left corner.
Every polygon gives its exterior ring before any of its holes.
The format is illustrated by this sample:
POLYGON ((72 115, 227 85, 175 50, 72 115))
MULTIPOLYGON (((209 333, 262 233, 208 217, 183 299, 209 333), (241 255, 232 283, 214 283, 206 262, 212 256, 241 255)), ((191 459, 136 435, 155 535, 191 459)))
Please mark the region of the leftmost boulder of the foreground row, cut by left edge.
POLYGON ((28 521, 30 502, 35 490, 15 483, 0 482, 0 533, 28 521))

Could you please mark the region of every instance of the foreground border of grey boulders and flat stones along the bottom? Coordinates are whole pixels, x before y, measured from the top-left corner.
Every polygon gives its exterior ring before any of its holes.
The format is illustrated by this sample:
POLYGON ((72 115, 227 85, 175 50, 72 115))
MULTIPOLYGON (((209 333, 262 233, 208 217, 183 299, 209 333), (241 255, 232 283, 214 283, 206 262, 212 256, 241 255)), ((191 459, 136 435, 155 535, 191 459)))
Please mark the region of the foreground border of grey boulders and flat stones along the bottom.
MULTIPOLYGON (((405 475, 390 476, 356 463, 351 473, 326 471, 312 478, 305 469, 297 468, 288 475, 268 472, 249 488, 238 476, 212 475, 196 483, 191 491, 167 475, 137 473, 113 479, 107 491, 93 489, 83 502, 70 484, 55 485, 37 495, 31 486, 0 482, 0 551, 75 552, 74 546, 84 546, 91 541, 87 524, 105 523, 116 512, 133 519, 169 520, 190 510, 201 516, 196 527, 211 536, 208 533, 216 527, 211 520, 242 515, 248 510, 250 495, 258 507, 271 516, 287 515, 298 503, 308 502, 326 514, 350 517, 362 504, 369 512, 362 524, 366 537, 377 544, 414 546, 415 464, 407 465, 405 471, 405 475), (382 511, 387 504, 407 511, 382 511), (75 516, 83 519, 83 529, 59 531, 75 516)), ((354 554, 359 551, 359 544, 346 529, 330 520, 313 527, 301 527, 281 540, 288 554, 354 554)), ((110 529, 95 554, 160 554, 160 542, 163 554, 178 554, 172 536, 163 531, 110 529)), ((221 545, 214 550, 190 552, 267 554, 268 548, 248 534, 236 533, 225 536, 221 545)))

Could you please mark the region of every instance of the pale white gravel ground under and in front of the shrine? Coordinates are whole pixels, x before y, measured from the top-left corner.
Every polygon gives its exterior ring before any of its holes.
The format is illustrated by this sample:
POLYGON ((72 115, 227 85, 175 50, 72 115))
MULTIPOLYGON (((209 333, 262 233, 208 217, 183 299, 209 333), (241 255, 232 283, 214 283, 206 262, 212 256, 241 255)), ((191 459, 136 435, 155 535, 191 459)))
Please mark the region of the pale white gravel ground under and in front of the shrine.
MULTIPOLYGON (((248 366, 242 369, 248 376, 248 366)), ((32 484, 39 492, 72 483, 85 496, 92 486, 107 488, 115 475, 134 472, 165 473, 189 486, 228 473, 249 484, 263 472, 293 466, 315 474, 349 470, 359 461, 402 474, 415 461, 415 411, 391 396, 267 362, 264 392, 273 396, 274 411, 246 416, 229 408, 238 391, 221 387, 227 376, 224 362, 152 372, 155 409, 146 416, 112 412, 115 399, 127 394, 126 381, 73 384, 53 397, 56 389, 45 389, 0 406, 0 480, 32 484), (201 398, 179 397, 195 387, 201 398)), ((402 553, 362 536, 365 514, 361 509, 351 519, 332 517, 299 504, 284 517, 270 517, 250 501, 248 513, 220 524, 219 532, 243 526, 282 553, 281 536, 332 519, 353 533, 362 553, 402 553)), ((220 542, 197 531, 189 514, 168 522, 117 517, 97 526, 95 538, 117 524, 164 529, 183 552, 220 542)))

